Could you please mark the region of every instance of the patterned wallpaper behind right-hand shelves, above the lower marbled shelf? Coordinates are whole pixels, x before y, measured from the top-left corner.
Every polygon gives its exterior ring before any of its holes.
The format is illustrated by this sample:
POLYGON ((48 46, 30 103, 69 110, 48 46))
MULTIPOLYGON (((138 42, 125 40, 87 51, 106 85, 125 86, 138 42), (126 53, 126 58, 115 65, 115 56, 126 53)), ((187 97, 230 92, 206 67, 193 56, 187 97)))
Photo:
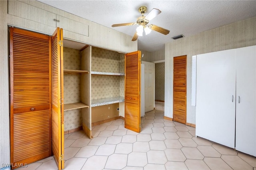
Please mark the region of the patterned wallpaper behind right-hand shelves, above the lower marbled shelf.
MULTIPOLYGON (((92 71, 124 73, 124 54, 92 47, 92 71)), ((91 99, 124 96, 124 76, 92 75, 91 99)))

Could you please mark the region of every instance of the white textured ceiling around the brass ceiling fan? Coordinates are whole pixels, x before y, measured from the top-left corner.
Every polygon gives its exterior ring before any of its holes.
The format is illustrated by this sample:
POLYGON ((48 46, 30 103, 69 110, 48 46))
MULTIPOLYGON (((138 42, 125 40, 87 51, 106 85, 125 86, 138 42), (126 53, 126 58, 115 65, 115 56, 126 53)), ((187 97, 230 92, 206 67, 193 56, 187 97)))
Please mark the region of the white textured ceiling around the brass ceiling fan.
MULTIPOLYGON (((138 49, 156 51, 164 48, 164 43, 180 34, 192 36, 200 32, 224 26, 256 16, 256 0, 38 0, 55 8, 112 28, 112 24, 136 22, 141 16, 138 8, 148 8, 145 16, 157 8, 162 11, 152 19, 154 24, 170 30, 168 35, 152 31, 147 36, 138 37, 138 49)), ((112 28, 134 36, 138 26, 112 28)))

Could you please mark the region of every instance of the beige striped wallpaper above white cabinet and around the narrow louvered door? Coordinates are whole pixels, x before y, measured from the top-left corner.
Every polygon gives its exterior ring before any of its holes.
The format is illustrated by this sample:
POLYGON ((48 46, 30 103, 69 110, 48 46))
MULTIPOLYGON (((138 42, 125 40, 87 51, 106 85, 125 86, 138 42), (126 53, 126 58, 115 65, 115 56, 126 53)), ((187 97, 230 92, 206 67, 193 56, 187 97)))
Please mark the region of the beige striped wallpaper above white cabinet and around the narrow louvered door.
POLYGON ((187 55, 187 122, 196 124, 196 107, 191 105, 192 55, 251 45, 256 45, 256 17, 166 43, 165 116, 173 115, 173 57, 187 55))

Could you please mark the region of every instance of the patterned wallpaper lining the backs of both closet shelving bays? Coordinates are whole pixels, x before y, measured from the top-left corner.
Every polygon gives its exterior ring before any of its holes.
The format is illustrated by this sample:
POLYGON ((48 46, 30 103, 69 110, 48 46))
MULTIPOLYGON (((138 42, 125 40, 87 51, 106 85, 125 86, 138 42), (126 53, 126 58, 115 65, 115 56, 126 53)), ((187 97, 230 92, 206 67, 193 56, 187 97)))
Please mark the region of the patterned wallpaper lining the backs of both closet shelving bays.
MULTIPOLYGON (((80 50, 64 47, 64 69, 81 69, 80 50)), ((124 73, 124 54, 92 47, 91 71, 124 73)), ((91 99, 124 97, 124 76, 92 75, 91 99)), ((80 102, 80 74, 64 74, 64 104, 80 102)), ((81 109, 64 111, 64 131, 82 126, 81 109)))

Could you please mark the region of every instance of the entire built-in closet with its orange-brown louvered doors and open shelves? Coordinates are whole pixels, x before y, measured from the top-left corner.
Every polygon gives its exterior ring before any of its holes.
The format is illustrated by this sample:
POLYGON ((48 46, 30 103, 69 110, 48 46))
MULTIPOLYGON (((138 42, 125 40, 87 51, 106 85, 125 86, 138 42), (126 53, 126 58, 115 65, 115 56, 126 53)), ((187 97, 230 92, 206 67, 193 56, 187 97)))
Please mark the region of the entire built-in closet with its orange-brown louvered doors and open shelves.
POLYGON ((63 169, 64 132, 83 129, 92 138, 92 125, 124 119, 125 112, 127 128, 140 131, 140 51, 124 54, 94 47, 63 39, 62 32, 57 28, 47 36, 10 28, 14 164, 53 155, 63 169), (125 95, 132 97, 126 109, 125 95))

